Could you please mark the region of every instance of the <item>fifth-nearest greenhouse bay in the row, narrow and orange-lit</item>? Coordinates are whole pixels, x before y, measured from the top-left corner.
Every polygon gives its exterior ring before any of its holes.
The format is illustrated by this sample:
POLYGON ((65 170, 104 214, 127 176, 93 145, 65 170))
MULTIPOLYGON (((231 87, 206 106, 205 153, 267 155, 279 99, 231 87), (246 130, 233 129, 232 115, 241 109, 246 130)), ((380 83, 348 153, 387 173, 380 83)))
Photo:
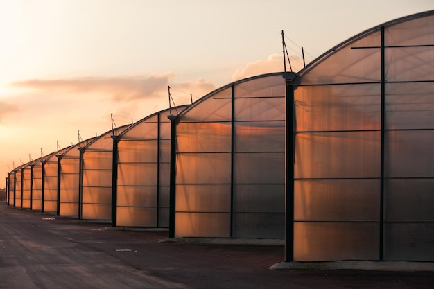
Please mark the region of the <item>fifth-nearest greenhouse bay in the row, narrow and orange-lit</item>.
POLYGON ((78 217, 80 184, 80 148, 92 139, 81 141, 58 154, 58 215, 78 217))

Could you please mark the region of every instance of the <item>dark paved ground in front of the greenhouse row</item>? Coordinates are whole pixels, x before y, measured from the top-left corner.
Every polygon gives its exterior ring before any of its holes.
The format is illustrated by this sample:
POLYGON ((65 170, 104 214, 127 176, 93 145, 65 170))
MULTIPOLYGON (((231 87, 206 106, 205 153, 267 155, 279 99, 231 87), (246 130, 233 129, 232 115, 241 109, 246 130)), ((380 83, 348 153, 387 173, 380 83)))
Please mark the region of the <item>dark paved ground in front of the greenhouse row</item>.
POLYGON ((269 270, 281 245, 159 242, 0 202, 0 288, 434 288, 434 272, 269 270))

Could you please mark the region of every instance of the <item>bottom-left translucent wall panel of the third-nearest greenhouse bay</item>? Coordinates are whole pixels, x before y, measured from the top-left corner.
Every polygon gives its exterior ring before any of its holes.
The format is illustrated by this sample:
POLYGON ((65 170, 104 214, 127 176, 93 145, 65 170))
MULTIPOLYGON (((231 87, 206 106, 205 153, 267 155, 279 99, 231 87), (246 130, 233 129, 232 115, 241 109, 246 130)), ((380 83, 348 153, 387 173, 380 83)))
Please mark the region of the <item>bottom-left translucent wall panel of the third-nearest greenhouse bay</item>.
POLYGON ((157 209, 118 207, 116 225, 124 227, 157 227, 157 209))

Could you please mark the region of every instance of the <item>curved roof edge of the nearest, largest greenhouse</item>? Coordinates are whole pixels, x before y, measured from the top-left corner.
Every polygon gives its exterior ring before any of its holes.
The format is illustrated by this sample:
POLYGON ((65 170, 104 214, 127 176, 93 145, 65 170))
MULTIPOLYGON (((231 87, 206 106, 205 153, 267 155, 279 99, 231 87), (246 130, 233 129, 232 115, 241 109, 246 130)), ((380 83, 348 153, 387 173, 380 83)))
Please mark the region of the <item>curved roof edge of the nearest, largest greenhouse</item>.
POLYGON ((297 74, 299 74, 300 76, 303 73, 306 73, 306 71, 309 71, 311 69, 313 69, 313 67, 315 67, 316 65, 318 65, 322 60, 324 60, 325 58, 328 58, 329 55, 336 53, 337 51, 339 51, 340 49, 342 49, 343 47, 351 44, 352 42, 366 36, 369 35, 370 33, 374 33, 378 30, 381 29, 381 27, 383 26, 392 26, 395 24, 399 24, 403 21, 409 21, 411 19, 416 19, 416 18, 420 18, 420 17, 426 17, 429 15, 434 15, 434 10, 429 10, 429 11, 425 11, 425 12, 419 12, 419 13, 415 13, 412 15, 407 15, 404 17, 399 17, 397 19, 393 19, 387 22, 384 22, 383 24, 379 24, 377 26, 374 26, 370 29, 367 29, 361 33, 358 33, 356 35, 354 35, 353 37, 350 37, 349 39, 345 40, 344 42, 341 42, 340 44, 334 46, 333 48, 329 49, 328 51, 326 51, 325 53, 322 53, 322 55, 318 56, 318 58, 315 58, 314 60, 312 60, 309 64, 306 65, 306 67, 304 67, 303 69, 301 69, 297 74))

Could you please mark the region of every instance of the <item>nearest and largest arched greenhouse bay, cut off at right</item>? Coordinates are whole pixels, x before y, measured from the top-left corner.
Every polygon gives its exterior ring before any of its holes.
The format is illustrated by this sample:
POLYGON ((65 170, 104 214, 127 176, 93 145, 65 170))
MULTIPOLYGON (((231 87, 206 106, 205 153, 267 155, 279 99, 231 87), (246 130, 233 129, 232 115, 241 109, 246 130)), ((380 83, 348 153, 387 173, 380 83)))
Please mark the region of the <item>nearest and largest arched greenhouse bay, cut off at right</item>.
POLYGON ((434 12, 287 81, 286 261, 434 261, 434 12))

